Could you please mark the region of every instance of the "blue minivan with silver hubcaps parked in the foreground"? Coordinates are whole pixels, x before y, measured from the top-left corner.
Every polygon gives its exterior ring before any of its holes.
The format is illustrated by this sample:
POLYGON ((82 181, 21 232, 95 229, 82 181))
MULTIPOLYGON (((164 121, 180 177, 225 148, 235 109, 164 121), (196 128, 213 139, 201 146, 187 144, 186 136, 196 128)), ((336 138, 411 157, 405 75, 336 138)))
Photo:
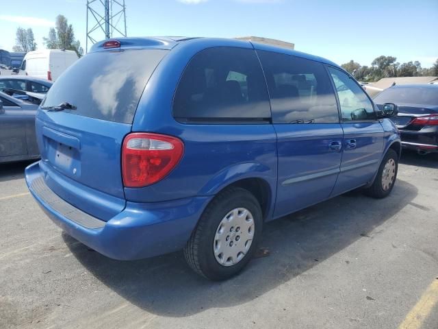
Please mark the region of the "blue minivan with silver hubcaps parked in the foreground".
POLYGON ((96 43, 36 115, 29 190, 105 256, 183 249, 211 280, 238 273, 263 223, 362 187, 386 197, 400 136, 342 68, 249 41, 96 43))

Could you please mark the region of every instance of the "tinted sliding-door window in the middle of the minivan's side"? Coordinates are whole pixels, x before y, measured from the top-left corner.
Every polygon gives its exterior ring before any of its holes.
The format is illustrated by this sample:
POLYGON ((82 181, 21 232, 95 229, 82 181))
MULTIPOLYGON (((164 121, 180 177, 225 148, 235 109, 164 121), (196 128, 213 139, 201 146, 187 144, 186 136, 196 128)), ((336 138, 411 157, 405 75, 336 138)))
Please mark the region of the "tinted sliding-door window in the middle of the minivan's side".
POLYGON ((321 63, 257 51, 268 82, 274 123, 337 123, 336 97, 321 63))

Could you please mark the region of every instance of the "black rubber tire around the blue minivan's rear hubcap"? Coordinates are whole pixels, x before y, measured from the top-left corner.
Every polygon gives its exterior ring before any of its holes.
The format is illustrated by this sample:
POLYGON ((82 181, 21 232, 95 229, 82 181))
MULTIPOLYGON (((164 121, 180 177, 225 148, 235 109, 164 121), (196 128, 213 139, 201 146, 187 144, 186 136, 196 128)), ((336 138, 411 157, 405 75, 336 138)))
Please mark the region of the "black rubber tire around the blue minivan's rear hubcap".
POLYGON ((257 249, 261 237, 263 217, 260 204, 252 193, 244 188, 231 187, 218 194, 205 208, 198 225, 184 248, 184 256, 192 269, 209 280, 226 280, 235 276, 248 264, 257 249), (253 215, 253 242, 243 258, 231 266, 218 263, 213 243, 216 230, 228 212, 235 208, 246 208, 253 215))

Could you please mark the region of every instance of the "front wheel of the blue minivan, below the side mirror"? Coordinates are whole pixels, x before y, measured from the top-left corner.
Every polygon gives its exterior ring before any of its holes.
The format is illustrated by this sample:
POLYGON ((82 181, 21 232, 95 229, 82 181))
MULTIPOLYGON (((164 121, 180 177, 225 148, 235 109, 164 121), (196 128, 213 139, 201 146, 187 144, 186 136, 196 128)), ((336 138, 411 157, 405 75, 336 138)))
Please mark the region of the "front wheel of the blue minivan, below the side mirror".
POLYGON ((378 168, 376 178, 372 186, 365 190, 367 195, 381 199, 387 197, 391 193, 392 188, 397 178, 398 170, 398 154, 394 149, 389 149, 383 161, 381 167, 378 168))

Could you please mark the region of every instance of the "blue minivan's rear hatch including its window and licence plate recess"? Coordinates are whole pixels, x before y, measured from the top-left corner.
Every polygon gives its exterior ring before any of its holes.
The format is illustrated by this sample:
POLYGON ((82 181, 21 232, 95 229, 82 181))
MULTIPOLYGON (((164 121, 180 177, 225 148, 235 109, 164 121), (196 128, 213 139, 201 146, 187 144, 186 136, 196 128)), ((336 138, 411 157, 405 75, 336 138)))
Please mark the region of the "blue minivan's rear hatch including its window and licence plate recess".
POLYGON ((47 185, 99 219, 123 210, 123 138, 164 49, 88 53, 53 84, 36 117, 47 185), (105 204, 107 203, 107 204, 105 204))

